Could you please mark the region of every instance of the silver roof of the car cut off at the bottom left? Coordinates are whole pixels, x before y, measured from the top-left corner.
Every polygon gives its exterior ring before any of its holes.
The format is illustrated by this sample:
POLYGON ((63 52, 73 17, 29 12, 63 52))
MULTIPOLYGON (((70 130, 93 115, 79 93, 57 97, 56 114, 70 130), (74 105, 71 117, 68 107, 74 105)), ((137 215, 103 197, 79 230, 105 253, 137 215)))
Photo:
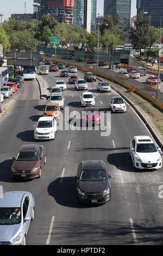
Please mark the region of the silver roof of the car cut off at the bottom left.
POLYGON ((20 207, 24 194, 29 194, 27 191, 9 191, 2 195, 0 207, 20 207))

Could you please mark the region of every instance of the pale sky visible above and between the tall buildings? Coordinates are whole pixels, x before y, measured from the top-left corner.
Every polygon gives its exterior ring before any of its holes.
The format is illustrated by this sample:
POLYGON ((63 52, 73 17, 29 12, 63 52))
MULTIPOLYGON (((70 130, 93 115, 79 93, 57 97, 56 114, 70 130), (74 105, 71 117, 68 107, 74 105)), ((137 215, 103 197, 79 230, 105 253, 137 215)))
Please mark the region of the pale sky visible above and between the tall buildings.
MULTIPOLYGON (((33 0, 0 0, 2 22, 8 20, 11 14, 20 14, 25 12, 24 4, 26 2, 26 13, 33 13, 33 0)), ((97 13, 103 15, 104 0, 97 0, 97 13)), ((136 15, 136 0, 131 0, 131 17, 136 15)))

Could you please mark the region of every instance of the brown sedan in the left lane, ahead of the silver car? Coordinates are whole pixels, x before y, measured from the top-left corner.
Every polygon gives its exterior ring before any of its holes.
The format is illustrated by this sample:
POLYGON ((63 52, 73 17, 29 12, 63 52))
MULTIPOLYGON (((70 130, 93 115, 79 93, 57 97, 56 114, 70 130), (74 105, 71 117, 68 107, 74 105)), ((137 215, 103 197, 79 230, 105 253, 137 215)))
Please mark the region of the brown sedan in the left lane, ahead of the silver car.
POLYGON ((11 178, 34 179, 41 177, 46 163, 46 152, 42 145, 23 145, 11 166, 11 178))

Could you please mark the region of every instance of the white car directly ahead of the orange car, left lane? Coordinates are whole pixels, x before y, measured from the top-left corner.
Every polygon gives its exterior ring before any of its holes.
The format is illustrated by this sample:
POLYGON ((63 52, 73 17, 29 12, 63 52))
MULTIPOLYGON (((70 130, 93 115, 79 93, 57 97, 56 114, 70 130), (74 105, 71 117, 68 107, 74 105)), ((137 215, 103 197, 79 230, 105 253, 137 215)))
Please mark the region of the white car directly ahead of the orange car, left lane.
POLYGON ((57 121, 54 117, 40 117, 34 131, 35 139, 54 139, 57 132, 57 121))

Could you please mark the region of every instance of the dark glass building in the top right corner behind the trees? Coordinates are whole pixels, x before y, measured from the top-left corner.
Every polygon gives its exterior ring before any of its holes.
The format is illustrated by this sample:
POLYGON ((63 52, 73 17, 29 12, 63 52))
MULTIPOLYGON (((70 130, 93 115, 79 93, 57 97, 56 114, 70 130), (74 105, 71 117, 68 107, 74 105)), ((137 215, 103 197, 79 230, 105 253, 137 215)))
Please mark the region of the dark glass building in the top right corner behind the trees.
MULTIPOLYGON (((151 26, 159 27, 160 26, 160 13, 163 14, 163 1, 162 0, 137 0, 136 2, 137 15, 143 9, 148 14, 151 15, 151 26), (150 14, 151 12, 151 14, 150 14), (156 14, 152 14, 152 12, 156 14)), ((161 19, 161 24, 163 25, 163 15, 161 19)))

